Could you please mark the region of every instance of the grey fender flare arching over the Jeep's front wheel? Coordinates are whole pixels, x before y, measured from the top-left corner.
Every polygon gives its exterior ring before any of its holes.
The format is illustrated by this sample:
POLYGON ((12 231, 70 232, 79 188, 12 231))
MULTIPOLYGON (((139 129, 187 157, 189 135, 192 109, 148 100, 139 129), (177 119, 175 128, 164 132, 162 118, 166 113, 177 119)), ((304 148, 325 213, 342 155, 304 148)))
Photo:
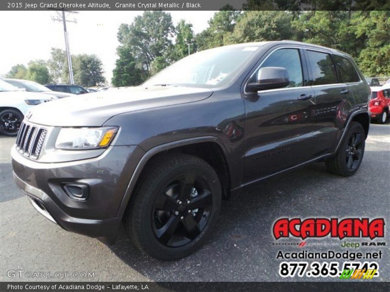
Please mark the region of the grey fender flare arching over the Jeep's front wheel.
POLYGON ((147 162, 154 155, 156 155, 157 153, 160 153, 162 151, 173 149, 173 148, 176 148, 176 147, 190 145, 190 144, 195 144, 195 143, 202 143, 202 142, 214 142, 214 143, 217 143, 218 146, 221 147, 224 155, 226 156, 227 150, 226 150, 225 145, 222 143, 222 141, 219 138, 217 138, 215 136, 203 136, 203 137, 195 137, 195 138, 178 140, 178 141, 162 144, 162 145, 159 145, 159 146, 155 146, 155 147, 151 148, 150 150, 148 150, 142 156, 142 158, 139 160, 139 162, 138 162, 138 164, 136 166, 136 169, 134 170, 133 175, 132 175, 132 177, 130 179, 130 182, 127 185, 127 188, 126 188, 125 193, 123 195, 122 201, 120 202, 119 209, 117 211, 117 218, 122 218, 123 217, 123 215, 124 215, 124 213, 126 211, 127 205, 128 205, 128 203, 130 201, 130 197, 133 194, 134 188, 135 188, 136 183, 138 181, 138 178, 139 178, 142 170, 144 169, 145 165, 147 164, 147 162))

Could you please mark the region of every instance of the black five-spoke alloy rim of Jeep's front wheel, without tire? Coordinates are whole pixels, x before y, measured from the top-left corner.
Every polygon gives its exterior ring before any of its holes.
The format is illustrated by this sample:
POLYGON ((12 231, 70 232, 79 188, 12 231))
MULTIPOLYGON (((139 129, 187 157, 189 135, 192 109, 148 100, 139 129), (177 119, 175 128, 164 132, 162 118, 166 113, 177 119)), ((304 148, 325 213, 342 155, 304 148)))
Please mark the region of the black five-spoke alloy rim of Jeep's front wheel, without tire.
POLYGON ((190 173, 177 177, 156 198, 153 232, 161 244, 185 245, 205 228, 212 208, 213 194, 204 179, 190 173))

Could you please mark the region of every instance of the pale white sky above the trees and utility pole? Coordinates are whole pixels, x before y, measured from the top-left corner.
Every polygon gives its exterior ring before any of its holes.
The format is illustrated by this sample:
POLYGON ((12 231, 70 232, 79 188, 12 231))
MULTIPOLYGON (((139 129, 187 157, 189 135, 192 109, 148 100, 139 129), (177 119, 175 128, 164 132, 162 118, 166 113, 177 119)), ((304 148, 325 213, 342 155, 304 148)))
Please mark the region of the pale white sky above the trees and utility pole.
MULTIPOLYGON (((180 19, 193 24, 195 33, 207 28, 215 11, 168 11, 174 25, 180 19)), ((117 31, 143 11, 80 11, 67 16, 71 54, 95 54, 103 63, 104 76, 111 81, 117 59, 117 31)), ((12 66, 50 58, 51 48, 65 49, 63 26, 53 21, 54 11, 0 11, 0 76, 12 66)))

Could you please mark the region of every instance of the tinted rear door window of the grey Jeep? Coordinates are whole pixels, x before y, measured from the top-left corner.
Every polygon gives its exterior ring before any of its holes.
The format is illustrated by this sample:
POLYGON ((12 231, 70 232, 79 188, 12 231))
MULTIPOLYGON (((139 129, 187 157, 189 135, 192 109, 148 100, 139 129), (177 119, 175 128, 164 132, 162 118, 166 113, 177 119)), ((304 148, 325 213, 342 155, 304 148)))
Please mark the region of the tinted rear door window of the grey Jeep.
POLYGON ((307 51, 307 54, 313 75, 313 85, 337 83, 336 69, 329 54, 314 51, 307 51))

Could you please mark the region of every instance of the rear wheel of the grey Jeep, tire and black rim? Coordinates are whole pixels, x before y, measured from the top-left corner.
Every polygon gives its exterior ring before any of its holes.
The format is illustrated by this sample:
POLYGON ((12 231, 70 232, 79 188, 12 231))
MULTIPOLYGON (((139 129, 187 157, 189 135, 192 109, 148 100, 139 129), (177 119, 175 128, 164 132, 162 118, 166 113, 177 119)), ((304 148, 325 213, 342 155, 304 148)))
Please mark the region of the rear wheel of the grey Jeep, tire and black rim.
POLYGON ((351 122, 336 154, 325 161, 328 171, 344 177, 353 175, 362 163, 365 143, 366 134, 362 125, 351 122))

